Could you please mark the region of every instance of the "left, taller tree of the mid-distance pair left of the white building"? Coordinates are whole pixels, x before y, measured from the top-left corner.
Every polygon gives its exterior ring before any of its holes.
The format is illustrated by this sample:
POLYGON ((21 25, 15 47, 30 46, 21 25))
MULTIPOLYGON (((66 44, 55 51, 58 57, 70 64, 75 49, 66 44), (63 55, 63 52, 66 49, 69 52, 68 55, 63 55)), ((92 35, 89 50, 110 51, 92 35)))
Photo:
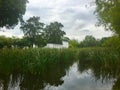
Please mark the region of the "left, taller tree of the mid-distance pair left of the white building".
POLYGON ((31 17, 26 22, 22 23, 20 29, 23 31, 24 36, 28 37, 31 45, 35 44, 35 38, 40 35, 43 30, 44 23, 39 22, 40 17, 31 17))

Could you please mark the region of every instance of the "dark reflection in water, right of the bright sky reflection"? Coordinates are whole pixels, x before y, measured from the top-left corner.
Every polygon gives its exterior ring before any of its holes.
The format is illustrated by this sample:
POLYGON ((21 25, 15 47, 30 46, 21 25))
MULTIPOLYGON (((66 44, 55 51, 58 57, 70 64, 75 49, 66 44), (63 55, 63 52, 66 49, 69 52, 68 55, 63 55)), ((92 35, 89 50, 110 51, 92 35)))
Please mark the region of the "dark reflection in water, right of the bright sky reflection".
MULTIPOLYGON (((82 55, 83 56, 83 55, 82 55)), ((91 70, 96 80, 107 81, 114 79, 112 90, 120 90, 120 60, 114 56, 90 56, 85 53, 85 57, 80 57, 78 69, 80 72, 91 70)))

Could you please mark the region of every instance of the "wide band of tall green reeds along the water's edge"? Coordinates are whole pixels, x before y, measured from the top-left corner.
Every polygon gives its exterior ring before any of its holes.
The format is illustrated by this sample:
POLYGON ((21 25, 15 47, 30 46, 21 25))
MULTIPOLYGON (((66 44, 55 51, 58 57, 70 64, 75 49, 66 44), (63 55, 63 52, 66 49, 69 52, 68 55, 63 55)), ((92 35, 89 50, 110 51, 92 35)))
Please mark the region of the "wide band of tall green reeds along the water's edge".
POLYGON ((119 51, 110 48, 2 49, 0 71, 5 74, 14 72, 42 74, 57 67, 68 69, 76 60, 79 60, 80 71, 83 71, 89 67, 116 66, 120 63, 119 58, 119 51))

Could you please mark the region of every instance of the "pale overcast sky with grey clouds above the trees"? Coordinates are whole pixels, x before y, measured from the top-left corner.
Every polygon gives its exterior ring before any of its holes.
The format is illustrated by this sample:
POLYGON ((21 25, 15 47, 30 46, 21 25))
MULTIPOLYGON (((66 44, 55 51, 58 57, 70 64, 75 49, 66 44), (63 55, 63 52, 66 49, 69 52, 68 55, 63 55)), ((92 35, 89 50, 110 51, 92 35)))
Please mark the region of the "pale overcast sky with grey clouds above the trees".
MULTIPOLYGON (((70 39, 83 40, 86 35, 95 38, 108 37, 112 32, 96 27, 97 18, 94 15, 95 5, 93 0, 29 0, 24 20, 32 16, 39 16, 40 21, 49 24, 58 21, 64 25, 66 36, 70 39)), ((0 35, 8 37, 22 37, 19 26, 13 30, 0 31, 0 35)), ((5 29, 5 28, 4 28, 5 29)))

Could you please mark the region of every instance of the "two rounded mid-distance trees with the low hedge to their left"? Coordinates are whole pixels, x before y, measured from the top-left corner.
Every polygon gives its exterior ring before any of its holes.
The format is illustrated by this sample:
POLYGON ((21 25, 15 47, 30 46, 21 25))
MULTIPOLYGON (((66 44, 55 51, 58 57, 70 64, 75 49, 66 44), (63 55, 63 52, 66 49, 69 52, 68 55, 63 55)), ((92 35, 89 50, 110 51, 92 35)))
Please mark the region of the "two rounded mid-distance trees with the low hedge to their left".
POLYGON ((59 22, 52 22, 49 25, 45 25, 40 22, 40 17, 30 17, 28 20, 21 23, 20 29, 23 31, 23 38, 6 38, 0 37, 0 47, 43 47, 47 43, 62 44, 64 35, 63 25, 59 22))

